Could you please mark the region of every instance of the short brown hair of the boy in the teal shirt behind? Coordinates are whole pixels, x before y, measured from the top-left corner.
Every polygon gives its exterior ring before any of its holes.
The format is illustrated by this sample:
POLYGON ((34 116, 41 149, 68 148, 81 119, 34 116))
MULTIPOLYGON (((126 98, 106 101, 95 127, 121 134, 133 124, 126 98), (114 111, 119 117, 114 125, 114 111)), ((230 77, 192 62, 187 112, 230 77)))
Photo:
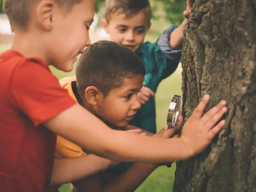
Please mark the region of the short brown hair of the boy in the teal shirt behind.
POLYGON ((121 11, 126 17, 131 17, 143 11, 148 21, 147 24, 150 25, 151 7, 149 0, 106 0, 105 19, 107 22, 110 21, 111 15, 117 11, 121 11))

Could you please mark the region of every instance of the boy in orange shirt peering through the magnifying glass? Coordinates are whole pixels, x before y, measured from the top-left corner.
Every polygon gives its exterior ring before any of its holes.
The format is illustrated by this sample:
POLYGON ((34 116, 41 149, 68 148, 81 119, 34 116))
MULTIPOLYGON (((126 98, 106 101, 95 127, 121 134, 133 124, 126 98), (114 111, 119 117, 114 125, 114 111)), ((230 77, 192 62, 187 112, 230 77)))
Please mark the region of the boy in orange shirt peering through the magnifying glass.
MULTIPOLYGON (((60 80, 60 84, 76 102, 111 128, 140 133, 140 130, 134 129, 135 127, 128 125, 128 122, 141 107, 137 95, 143 85, 144 75, 145 68, 132 51, 112 41, 98 41, 88 47, 80 57, 76 67, 77 79, 74 76, 66 77, 60 80)), ((182 117, 180 118, 177 127, 182 123, 182 117)), ((173 129, 166 127, 154 137, 169 138, 177 127, 173 129)), ((56 158, 74 158, 86 154, 76 144, 58 136, 55 155, 56 158)), ((91 158, 90 156, 92 154, 87 158, 91 158)), ((94 160, 88 162, 87 166, 97 167, 98 172, 115 164, 100 157, 94 160)), ((108 171, 97 173, 95 170, 95 175, 73 184, 81 192, 87 189, 90 189, 90 192, 130 192, 134 191, 158 166, 160 164, 136 163, 121 177, 108 171)), ((88 173, 90 174, 93 173, 88 173)), ((54 192, 56 188, 58 187, 52 187, 49 191, 54 192)))

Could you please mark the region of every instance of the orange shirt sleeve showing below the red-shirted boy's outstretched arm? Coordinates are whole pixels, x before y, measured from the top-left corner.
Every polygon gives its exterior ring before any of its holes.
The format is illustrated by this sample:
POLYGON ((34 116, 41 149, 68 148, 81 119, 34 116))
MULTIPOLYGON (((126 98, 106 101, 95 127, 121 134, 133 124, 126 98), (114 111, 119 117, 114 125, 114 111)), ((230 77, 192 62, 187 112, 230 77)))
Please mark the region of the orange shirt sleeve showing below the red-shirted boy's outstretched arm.
POLYGON ((84 153, 81 147, 61 136, 57 136, 55 151, 56 158, 81 157, 85 155, 86 153, 84 153))

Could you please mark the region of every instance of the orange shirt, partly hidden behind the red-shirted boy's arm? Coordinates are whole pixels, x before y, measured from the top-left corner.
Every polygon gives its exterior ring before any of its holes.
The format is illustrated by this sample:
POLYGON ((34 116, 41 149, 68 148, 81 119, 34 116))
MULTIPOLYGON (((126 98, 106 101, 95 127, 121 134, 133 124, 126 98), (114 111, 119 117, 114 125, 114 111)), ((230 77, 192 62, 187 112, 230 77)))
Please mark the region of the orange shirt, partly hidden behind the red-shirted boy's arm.
MULTIPOLYGON (((64 87, 69 93, 69 96, 77 102, 77 99, 74 95, 74 92, 72 90, 72 84, 71 82, 76 81, 76 77, 65 77, 63 79, 59 80, 59 84, 61 87, 64 87)), ((77 144, 72 143, 71 141, 61 137, 57 136, 57 143, 56 143, 56 151, 55 151, 55 157, 56 158, 64 158, 64 157, 80 157, 85 156, 86 154, 82 150, 81 147, 79 147, 77 144)))

